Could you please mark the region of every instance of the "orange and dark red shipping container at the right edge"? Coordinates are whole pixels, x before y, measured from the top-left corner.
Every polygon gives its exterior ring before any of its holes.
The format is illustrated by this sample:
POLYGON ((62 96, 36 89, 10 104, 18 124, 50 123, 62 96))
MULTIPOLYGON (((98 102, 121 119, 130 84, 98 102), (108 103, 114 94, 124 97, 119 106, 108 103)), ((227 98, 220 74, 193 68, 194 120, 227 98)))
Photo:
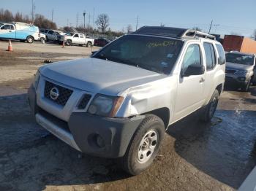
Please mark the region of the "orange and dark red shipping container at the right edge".
POLYGON ((225 35, 222 45, 227 52, 238 51, 256 54, 256 41, 248 37, 225 35))

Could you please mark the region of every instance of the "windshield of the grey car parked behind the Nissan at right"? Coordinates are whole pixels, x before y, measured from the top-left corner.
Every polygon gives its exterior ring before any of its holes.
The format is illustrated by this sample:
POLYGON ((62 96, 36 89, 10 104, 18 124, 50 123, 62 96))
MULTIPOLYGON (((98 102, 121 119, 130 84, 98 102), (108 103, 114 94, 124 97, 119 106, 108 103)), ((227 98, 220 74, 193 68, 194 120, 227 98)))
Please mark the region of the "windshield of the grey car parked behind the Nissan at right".
POLYGON ((253 65, 254 56, 227 53, 226 54, 226 61, 230 62, 230 63, 239 63, 239 64, 243 64, 243 65, 253 65))

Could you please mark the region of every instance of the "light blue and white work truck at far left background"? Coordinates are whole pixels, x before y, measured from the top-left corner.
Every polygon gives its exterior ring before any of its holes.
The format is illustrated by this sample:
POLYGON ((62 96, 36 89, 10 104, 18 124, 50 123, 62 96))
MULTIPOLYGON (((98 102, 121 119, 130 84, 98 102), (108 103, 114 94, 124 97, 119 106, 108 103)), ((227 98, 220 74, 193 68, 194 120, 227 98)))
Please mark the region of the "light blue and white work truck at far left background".
POLYGON ((0 39, 15 39, 32 43, 40 40, 39 28, 27 23, 0 23, 0 39))

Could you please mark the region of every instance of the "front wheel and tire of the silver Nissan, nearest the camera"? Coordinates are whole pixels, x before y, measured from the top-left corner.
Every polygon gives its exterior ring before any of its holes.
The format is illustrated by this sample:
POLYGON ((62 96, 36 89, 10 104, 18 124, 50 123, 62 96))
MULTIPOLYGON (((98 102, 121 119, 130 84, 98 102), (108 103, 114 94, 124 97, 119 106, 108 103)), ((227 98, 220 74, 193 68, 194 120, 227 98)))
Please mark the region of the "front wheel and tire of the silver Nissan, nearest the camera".
POLYGON ((119 158, 121 168, 131 175, 145 171, 157 156, 164 136, 164 122, 154 114, 147 114, 129 142, 124 157, 119 158))

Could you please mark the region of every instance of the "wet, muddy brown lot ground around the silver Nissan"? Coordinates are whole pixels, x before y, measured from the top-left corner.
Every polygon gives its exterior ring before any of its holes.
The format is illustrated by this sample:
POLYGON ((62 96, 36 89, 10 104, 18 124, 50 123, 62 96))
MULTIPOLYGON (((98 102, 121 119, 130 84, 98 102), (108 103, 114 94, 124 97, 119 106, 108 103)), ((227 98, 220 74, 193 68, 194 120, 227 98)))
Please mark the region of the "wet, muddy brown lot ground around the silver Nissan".
POLYGON ((42 61, 86 55, 0 56, 0 190, 236 190, 256 164, 255 87, 225 91, 211 123, 198 122, 199 111, 171 125, 151 168, 128 176, 114 160, 72 149, 31 116, 26 90, 42 61))

